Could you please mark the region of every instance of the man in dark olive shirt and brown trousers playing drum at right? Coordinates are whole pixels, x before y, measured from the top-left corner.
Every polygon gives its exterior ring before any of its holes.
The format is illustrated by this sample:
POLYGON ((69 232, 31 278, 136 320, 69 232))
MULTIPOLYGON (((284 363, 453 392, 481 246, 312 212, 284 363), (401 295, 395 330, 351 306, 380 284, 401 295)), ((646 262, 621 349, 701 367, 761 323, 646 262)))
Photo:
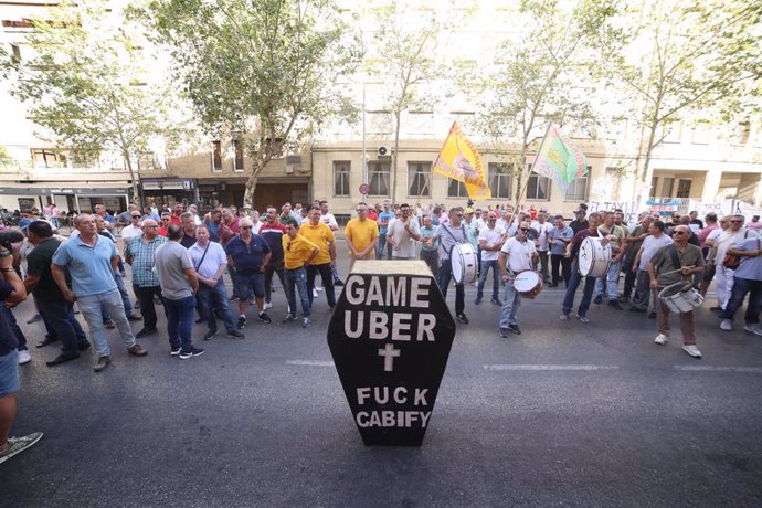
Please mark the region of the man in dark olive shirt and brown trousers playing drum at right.
MULTIPOLYGON (((673 245, 659 248, 648 262, 650 288, 654 292, 659 335, 654 342, 664 346, 669 338, 669 307, 658 297, 658 290, 670 284, 685 283, 689 290, 694 274, 703 272, 703 254, 696 245, 688 243, 692 233, 687 225, 678 225, 673 232, 673 245)), ((682 331, 682 349, 694 358, 701 358, 701 351, 696 347, 694 332, 694 311, 680 313, 680 330, 682 331)))

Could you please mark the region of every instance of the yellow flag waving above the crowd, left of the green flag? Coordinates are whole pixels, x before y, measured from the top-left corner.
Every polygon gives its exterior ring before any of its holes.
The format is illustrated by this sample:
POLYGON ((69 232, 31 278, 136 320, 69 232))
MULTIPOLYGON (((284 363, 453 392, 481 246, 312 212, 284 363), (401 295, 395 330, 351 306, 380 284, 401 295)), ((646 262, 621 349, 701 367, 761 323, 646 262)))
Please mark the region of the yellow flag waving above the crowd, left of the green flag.
POLYGON ((466 184, 468 198, 493 197, 481 166, 481 157, 465 133, 453 123, 440 156, 434 161, 434 171, 466 184))

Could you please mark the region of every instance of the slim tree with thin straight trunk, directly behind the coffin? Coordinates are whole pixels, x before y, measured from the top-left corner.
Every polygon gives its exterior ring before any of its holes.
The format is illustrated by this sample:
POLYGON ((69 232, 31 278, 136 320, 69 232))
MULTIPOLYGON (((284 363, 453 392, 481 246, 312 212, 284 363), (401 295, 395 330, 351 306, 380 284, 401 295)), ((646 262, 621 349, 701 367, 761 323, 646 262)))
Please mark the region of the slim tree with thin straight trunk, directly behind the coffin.
POLYGON ((369 75, 383 83, 387 92, 384 104, 394 117, 390 171, 392 202, 396 202, 402 114, 413 107, 425 107, 431 102, 431 96, 423 96, 419 89, 423 82, 434 77, 436 68, 433 55, 436 54, 440 23, 435 15, 437 10, 432 7, 428 12, 430 15, 419 18, 415 23, 412 21, 416 17, 405 15, 410 12, 398 1, 377 9, 375 51, 366 61, 369 75))

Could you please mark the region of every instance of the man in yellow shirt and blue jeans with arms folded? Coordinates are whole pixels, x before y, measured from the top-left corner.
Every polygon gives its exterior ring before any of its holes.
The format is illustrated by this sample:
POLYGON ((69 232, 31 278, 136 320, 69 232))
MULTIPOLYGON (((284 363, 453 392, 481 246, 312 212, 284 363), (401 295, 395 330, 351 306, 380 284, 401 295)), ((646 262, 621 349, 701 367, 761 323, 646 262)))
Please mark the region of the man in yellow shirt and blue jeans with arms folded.
MULTIPOLYGON (((286 221, 286 236, 283 237, 283 264, 286 279, 286 297, 290 313, 283 322, 296 320, 296 292, 301 300, 301 328, 307 328, 309 320, 310 300, 307 294, 307 269, 315 261, 320 250, 313 242, 299 234, 299 225, 294 219, 286 221)), ((311 295, 311 293, 309 293, 311 295)))

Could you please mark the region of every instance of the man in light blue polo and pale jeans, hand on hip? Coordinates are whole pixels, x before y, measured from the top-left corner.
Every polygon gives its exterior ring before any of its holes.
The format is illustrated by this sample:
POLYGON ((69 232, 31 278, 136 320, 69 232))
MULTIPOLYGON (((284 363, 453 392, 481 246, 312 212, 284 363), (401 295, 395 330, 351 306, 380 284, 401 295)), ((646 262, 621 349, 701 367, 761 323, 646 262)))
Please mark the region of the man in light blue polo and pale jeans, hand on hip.
POLYGON ((89 335, 98 352, 98 362, 94 370, 100 372, 112 362, 104 332, 102 304, 108 308, 127 351, 137 357, 145 357, 147 352, 135 340, 125 315, 121 295, 114 281, 119 262, 114 243, 97 233, 92 215, 80 215, 75 226, 80 235, 59 247, 53 255, 51 271, 64 298, 80 303, 80 310, 87 321, 89 335), (66 282, 66 268, 72 277, 71 288, 66 282))

